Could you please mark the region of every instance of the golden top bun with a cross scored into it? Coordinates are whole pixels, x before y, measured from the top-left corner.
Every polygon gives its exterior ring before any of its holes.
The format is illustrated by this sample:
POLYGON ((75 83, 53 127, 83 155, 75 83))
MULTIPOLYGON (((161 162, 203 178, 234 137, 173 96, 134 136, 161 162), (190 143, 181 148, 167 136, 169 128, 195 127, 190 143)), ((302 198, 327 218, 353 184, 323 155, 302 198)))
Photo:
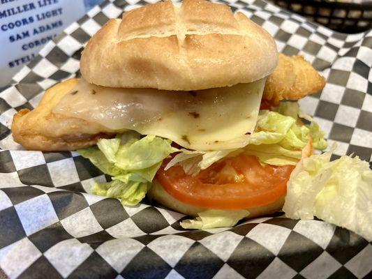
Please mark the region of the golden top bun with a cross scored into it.
POLYGON ((260 80, 277 61, 274 39, 243 13, 184 0, 110 20, 87 43, 80 69, 101 86, 200 90, 260 80))

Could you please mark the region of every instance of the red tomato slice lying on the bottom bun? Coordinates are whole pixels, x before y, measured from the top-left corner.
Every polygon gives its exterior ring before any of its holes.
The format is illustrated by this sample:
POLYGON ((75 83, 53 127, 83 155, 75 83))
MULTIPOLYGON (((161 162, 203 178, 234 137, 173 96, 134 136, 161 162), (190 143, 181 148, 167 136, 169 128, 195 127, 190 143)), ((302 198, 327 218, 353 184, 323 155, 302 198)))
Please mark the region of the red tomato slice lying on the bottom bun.
POLYGON ((196 176, 175 165, 156 174, 163 188, 186 204, 209 209, 249 209, 275 202, 286 193, 294 166, 262 166, 255 156, 243 153, 203 169, 196 176))

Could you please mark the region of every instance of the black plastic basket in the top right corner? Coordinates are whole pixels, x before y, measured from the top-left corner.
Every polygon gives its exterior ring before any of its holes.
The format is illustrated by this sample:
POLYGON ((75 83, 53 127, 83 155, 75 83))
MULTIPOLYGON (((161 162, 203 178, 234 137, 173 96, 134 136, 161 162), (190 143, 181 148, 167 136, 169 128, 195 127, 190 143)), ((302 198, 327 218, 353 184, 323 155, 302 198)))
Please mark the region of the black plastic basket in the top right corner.
POLYGON ((358 33, 372 28, 372 1, 364 3, 327 0, 270 1, 338 32, 358 33))

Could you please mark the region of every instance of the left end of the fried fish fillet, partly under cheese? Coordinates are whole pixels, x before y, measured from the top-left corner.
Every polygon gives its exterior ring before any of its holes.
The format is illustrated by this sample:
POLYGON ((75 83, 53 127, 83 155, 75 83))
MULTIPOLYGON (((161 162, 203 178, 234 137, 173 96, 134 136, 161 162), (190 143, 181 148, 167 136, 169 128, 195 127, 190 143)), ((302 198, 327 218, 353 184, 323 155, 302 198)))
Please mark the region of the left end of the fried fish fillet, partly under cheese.
POLYGON ((109 137, 110 130, 83 119, 52 113, 53 107, 77 84, 70 79, 52 86, 45 92, 38 106, 30 111, 22 109, 13 118, 15 142, 29 150, 67 151, 96 144, 109 137))

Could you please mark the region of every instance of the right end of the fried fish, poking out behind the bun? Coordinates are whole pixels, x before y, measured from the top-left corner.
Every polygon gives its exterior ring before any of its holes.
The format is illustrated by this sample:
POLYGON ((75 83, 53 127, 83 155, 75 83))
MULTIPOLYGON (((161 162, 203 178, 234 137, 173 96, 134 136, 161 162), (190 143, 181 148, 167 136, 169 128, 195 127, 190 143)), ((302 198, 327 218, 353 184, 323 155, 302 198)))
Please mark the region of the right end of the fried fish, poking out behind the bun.
POLYGON ((279 54, 278 66, 269 75, 262 99, 272 105, 280 100, 299 100, 316 93, 325 86, 322 77, 304 56, 279 54))

